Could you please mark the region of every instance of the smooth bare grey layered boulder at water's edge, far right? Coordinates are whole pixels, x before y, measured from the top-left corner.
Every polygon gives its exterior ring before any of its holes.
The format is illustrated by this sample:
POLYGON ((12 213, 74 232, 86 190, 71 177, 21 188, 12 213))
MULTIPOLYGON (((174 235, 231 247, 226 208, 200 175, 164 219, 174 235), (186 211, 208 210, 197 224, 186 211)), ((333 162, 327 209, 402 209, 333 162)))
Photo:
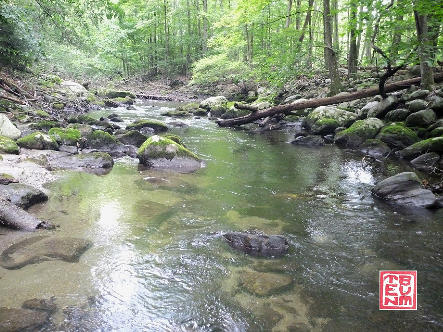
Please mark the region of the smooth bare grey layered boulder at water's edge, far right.
POLYGON ((412 172, 403 172, 380 181, 372 188, 372 194, 398 204, 441 208, 432 191, 424 189, 420 179, 412 172))

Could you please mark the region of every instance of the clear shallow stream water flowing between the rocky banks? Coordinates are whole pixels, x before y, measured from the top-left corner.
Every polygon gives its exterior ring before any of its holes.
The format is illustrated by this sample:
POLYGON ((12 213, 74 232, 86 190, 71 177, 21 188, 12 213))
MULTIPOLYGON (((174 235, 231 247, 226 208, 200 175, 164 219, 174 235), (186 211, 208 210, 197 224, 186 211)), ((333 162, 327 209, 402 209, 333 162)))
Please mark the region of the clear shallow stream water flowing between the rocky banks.
MULTIPOLYGON (((159 116, 175 105, 152 105, 92 115, 177 121, 159 116)), ((443 329, 442 210, 370 194, 408 165, 363 169, 358 152, 288 144, 289 129, 254 134, 178 120, 189 127, 170 132, 207 167, 182 174, 122 158, 105 176, 63 172, 32 212, 60 225, 45 234, 94 244, 79 263, 0 268, 1 306, 54 296, 60 310, 41 331, 443 329), (221 239, 230 230, 283 234, 289 252, 237 252, 221 239), (418 310, 378 309, 380 270, 417 270, 418 310)))

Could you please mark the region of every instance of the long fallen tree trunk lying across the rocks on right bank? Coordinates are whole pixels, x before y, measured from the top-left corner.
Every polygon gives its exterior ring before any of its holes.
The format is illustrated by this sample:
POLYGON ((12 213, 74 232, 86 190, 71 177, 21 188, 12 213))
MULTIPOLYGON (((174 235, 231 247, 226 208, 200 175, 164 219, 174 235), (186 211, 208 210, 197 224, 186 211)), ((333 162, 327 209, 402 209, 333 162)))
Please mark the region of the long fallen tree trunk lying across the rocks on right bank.
MULTIPOLYGON (((411 85, 419 84, 421 81, 421 77, 411 78, 409 80, 399 81, 392 84, 388 84, 384 87, 385 92, 393 92, 402 89, 407 89, 411 87, 411 85)), ((436 83, 443 81, 443 73, 434 75, 434 81, 436 83)), ((286 104, 286 105, 278 105, 272 106, 270 108, 264 109, 262 111, 253 112, 241 118, 235 119, 225 119, 218 120, 216 123, 221 127, 231 127, 235 125, 242 125, 251 123, 253 121, 257 121, 262 118, 274 116, 280 113, 287 113, 296 110, 303 110, 305 108, 316 108, 318 106, 328 106, 343 103, 345 101, 352 101, 355 99, 373 97, 380 94, 379 88, 371 88, 362 91, 352 92, 343 95, 336 95, 333 97, 320 98, 320 99, 310 99, 307 101, 303 101, 296 104, 286 104)), ((242 105, 244 106, 244 105, 242 105)))

